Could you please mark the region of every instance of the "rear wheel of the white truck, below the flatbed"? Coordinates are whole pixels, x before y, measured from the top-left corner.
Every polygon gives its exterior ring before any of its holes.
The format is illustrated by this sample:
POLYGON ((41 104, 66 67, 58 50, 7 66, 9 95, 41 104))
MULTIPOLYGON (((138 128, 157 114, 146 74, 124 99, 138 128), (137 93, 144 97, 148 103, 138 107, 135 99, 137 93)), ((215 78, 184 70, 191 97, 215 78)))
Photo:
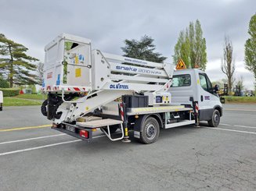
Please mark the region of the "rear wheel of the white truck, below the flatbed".
POLYGON ((145 144, 154 143, 159 136, 160 127, 156 118, 146 118, 142 124, 140 141, 145 144))

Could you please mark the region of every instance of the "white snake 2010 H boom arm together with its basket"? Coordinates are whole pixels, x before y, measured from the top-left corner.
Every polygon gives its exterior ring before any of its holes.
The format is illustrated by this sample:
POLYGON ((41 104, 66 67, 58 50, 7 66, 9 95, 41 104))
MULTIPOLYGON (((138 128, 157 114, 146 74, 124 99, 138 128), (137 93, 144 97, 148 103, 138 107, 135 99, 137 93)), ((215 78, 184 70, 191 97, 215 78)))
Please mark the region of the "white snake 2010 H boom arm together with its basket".
POLYGON ((170 104, 173 65, 91 51, 91 41, 61 34, 45 46, 45 68, 42 90, 62 93, 62 112, 56 123, 72 122, 124 94, 141 92, 151 97, 151 104, 170 104), (87 94, 75 102, 65 101, 69 93, 87 94), (156 103, 155 96, 164 94, 168 101, 156 103), (93 96, 94 95, 94 96, 93 96), (88 98, 89 97, 89 98, 88 98))

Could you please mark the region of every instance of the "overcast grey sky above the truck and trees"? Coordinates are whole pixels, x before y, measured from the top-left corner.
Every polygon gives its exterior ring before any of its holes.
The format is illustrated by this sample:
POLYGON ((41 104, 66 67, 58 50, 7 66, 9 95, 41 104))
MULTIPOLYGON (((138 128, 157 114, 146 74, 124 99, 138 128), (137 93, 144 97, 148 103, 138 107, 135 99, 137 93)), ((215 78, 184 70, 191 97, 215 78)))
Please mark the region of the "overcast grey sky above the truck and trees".
POLYGON ((207 74, 211 81, 225 78, 221 58, 225 35, 233 41, 236 78, 248 89, 253 74, 244 69, 248 23, 256 12, 255 0, 0 0, 0 33, 29 48, 29 55, 44 62, 44 47, 58 34, 92 40, 92 48, 122 55, 124 39, 146 34, 157 51, 171 55, 181 30, 200 20, 207 42, 207 74))

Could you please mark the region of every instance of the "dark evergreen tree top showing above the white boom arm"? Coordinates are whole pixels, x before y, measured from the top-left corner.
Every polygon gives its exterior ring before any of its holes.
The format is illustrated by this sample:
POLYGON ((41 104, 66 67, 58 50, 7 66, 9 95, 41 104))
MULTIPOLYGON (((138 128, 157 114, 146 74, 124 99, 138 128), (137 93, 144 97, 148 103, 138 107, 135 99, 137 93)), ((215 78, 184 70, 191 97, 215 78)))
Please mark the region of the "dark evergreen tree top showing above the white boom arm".
POLYGON ((124 44, 125 46, 121 49, 124 51, 124 56, 126 57, 150 62, 164 62, 166 59, 166 57, 162 56, 160 53, 155 52, 156 45, 153 44, 153 38, 146 35, 143 36, 140 41, 126 39, 124 44))

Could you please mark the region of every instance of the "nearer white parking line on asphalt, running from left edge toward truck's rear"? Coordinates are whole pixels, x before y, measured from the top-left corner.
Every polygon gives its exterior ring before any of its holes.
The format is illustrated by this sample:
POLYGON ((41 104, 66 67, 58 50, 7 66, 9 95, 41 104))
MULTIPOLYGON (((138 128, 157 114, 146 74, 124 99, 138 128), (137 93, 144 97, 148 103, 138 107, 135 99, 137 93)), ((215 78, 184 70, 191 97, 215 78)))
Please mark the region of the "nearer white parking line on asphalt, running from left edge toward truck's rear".
MULTIPOLYGON (((103 136, 106 136, 106 135, 94 136, 94 137, 92 137, 92 139, 96 139, 96 138, 103 137, 103 136)), ((70 140, 70 141, 65 141, 65 142, 60 142, 60 143, 47 144, 47 145, 43 145, 43 146, 39 146, 39 147, 31 147, 31 148, 22 149, 22 150, 13 150, 13 151, 1 153, 0 156, 21 153, 21 152, 25 152, 25 151, 29 151, 29 150, 38 150, 38 149, 47 148, 47 147, 54 147, 57 145, 62 145, 62 144, 67 144, 67 143, 76 143, 78 141, 81 141, 81 140, 70 140)))

